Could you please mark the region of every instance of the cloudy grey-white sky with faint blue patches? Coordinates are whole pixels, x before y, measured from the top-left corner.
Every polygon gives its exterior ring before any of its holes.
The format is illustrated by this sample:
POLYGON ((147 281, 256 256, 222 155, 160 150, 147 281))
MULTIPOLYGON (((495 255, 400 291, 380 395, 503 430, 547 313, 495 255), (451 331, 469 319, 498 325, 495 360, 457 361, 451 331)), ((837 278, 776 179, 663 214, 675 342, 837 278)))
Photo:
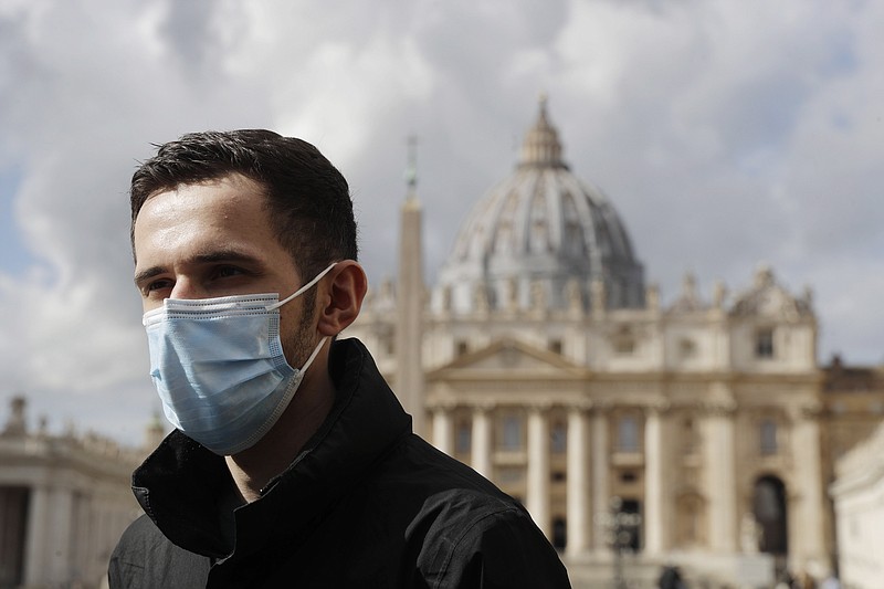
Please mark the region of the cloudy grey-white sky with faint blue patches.
POLYGON ((664 303, 767 264, 812 288, 821 361, 882 364, 882 30, 872 0, 0 0, 0 421, 24 395, 137 443, 159 410, 127 197, 155 144, 315 144, 379 284, 417 136, 432 284, 541 93, 664 303))

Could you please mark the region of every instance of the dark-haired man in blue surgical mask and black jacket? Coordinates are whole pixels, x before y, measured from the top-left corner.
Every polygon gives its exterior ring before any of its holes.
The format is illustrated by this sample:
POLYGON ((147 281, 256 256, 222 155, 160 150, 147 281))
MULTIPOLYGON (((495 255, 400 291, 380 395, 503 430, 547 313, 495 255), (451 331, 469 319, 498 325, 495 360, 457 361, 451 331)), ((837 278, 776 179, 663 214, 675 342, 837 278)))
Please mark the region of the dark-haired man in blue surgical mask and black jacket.
POLYGON ((514 499, 411 432, 367 349, 346 180, 266 130, 131 181, 150 370, 176 425, 133 474, 112 588, 568 587, 514 499))

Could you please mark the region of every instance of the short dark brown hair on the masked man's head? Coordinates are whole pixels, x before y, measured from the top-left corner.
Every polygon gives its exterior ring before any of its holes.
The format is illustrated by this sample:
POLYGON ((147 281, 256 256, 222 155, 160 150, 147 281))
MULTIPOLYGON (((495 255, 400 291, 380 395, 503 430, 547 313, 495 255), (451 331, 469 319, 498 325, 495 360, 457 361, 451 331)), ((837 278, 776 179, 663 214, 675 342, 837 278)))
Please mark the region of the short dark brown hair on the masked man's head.
POLYGON ((356 260, 356 220, 344 176, 316 147, 263 129, 190 133, 157 146, 131 177, 135 220, 154 194, 241 173, 264 188, 270 222, 307 281, 338 260, 356 260))

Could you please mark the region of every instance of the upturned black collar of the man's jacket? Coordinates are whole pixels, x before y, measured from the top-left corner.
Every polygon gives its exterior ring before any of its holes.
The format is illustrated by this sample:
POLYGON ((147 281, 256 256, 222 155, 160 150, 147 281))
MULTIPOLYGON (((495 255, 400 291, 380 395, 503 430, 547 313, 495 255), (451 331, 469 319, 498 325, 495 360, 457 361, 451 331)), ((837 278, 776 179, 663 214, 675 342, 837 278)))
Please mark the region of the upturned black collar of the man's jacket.
POLYGON ((263 496, 233 518, 235 487, 224 459, 180 431, 160 443, 133 474, 133 491, 167 538, 215 559, 248 556, 267 543, 298 544, 411 432, 411 418, 359 340, 335 341, 328 370, 337 391, 325 422, 263 496))

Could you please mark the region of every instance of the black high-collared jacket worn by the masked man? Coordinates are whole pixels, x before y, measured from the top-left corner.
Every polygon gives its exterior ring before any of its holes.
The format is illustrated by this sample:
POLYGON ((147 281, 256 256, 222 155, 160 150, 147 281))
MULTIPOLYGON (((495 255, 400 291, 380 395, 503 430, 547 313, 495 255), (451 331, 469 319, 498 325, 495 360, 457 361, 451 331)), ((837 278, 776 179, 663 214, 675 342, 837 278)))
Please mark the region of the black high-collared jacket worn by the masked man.
POLYGON ((361 343, 333 344, 329 372, 328 418, 251 504, 222 457, 166 438, 133 475, 147 515, 110 587, 569 587, 524 507, 411 433, 361 343))

